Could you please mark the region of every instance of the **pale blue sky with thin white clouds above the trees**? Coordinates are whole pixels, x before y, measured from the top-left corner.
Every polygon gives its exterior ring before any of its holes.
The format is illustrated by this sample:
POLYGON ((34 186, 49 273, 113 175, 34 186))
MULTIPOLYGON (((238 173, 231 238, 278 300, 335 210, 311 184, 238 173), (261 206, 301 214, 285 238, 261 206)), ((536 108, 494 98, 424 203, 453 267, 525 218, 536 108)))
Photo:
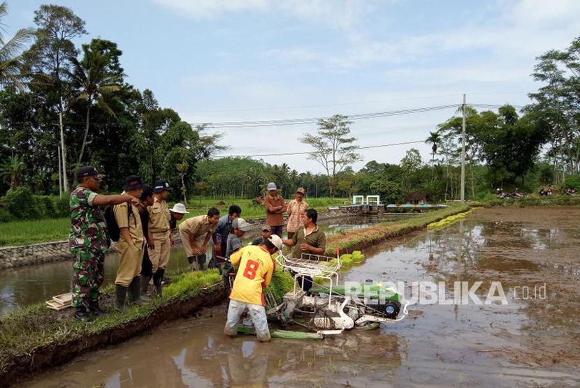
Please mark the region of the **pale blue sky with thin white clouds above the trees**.
MULTIPOLYGON (((7 0, 5 36, 34 27, 46 1, 7 0)), ((540 84, 536 57, 580 36, 577 0, 53 0, 87 22, 88 36, 123 51, 127 82, 192 124, 213 123, 229 147, 322 172, 298 140, 315 124, 224 126, 467 104, 521 107, 540 84), (220 124, 221 123, 221 124, 220 124), (228 124, 230 125, 230 124, 228 124), (263 156, 268 155, 268 156, 263 156)), ((456 107, 356 119, 364 160, 399 163, 456 107), (417 143, 409 143, 417 142, 417 143), (408 143, 400 145, 389 145, 408 143), (385 146, 385 147, 382 147, 385 146)))

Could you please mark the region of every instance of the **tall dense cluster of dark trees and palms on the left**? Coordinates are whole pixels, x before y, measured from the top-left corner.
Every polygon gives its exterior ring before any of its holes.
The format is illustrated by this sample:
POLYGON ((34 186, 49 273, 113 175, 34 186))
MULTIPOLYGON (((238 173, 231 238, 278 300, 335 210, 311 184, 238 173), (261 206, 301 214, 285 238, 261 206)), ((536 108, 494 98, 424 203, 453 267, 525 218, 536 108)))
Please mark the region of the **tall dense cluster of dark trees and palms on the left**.
POLYGON ((193 190, 196 163, 226 148, 222 134, 192 128, 153 91, 126 82, 117 43, 75 47, 87 30, 70 8, 43 5, 34 23, 0 42, 0 193, 22 184, 58 193, 59 168, 68 191, 87 164, 107 174, 108 191, 127 174, 193 190))

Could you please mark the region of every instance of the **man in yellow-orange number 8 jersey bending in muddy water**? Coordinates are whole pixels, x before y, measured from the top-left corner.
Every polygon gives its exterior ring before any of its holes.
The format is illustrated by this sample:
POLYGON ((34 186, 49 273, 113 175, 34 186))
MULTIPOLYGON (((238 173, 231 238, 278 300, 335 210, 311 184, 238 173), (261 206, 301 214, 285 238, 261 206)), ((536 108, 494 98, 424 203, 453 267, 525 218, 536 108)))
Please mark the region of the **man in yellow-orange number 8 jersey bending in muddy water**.
POLYGON ((272 281, 276 268, 272 255, 280 248, 282 239, 273 234, 264 244, 245 246, 230 256, 231 264, 238 266, 238 274, 231 289, 224 334, 228 336, 238 334, 240 316, 247 308, 258 339, 270 341, 263 288, 272 281))

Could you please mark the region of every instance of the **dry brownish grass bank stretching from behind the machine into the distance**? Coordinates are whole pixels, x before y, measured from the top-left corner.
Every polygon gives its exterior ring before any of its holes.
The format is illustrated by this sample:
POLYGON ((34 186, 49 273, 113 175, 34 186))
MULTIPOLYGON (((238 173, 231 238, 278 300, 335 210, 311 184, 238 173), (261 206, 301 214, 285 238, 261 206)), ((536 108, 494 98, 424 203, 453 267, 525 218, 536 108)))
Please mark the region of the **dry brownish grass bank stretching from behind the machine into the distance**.
POLYGON ((341 253, 361 251, 373 244, 413 232, 414 230, 423 229, 430 223, 441 221, 443 218, 463 213, 469 209, 470 206, 467 204, 451 204, 444 209, 428 211, 403 222, 380 223, 363 229, 352 229, 344 233, 332 234, 326 240, 326 255, 336 255, 336 248, 340 248, 341 253))

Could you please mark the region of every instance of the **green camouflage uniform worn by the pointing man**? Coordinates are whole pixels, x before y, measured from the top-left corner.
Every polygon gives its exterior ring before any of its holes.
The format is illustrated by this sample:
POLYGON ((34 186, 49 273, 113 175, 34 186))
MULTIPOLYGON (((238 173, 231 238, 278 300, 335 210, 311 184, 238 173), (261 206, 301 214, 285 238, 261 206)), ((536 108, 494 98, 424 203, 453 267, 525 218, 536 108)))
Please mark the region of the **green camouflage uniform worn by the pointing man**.
POLYGON ((71 193, 71 233, 68 246, 74 255, 73 307, 89 307, 99 300, 105 277, 105 253, 110 246, 105 216, 93 206, 96 193, 78 186, 71 193))

